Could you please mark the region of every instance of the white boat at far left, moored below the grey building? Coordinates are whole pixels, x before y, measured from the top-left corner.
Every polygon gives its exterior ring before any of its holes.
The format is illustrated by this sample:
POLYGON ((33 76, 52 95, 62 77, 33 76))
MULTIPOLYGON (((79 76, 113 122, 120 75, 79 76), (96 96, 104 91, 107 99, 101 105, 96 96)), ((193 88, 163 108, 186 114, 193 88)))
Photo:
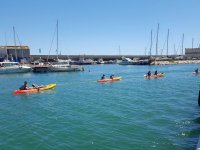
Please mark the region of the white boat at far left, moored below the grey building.
POLYGON ((0 74, 30 72, 31 67, 20 65, 18 62, 0 62, 0 74))

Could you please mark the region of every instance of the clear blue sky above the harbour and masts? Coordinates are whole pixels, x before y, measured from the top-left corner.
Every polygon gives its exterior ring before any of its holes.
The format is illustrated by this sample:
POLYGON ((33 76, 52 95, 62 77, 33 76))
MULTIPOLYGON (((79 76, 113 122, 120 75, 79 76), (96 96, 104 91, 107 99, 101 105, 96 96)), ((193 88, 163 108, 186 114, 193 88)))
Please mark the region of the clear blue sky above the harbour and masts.
MULTIPOLYGON (((199 0, 0 0, 0 45, 14 45, 15 26, 22 45, 31 54, 48 54, 59 20, 61 54, 145 54, 153 49, 157 24, 160 24, 158 53, 166 54, 167 30, 170 29, 169 53, 200 44, 199 0), (163 50, 162 50, 163 49, 163 50)), ((17 40, 19 44, 19 41, 17 40)), ((54 41, 50 54, 56 54, 54 41)))

